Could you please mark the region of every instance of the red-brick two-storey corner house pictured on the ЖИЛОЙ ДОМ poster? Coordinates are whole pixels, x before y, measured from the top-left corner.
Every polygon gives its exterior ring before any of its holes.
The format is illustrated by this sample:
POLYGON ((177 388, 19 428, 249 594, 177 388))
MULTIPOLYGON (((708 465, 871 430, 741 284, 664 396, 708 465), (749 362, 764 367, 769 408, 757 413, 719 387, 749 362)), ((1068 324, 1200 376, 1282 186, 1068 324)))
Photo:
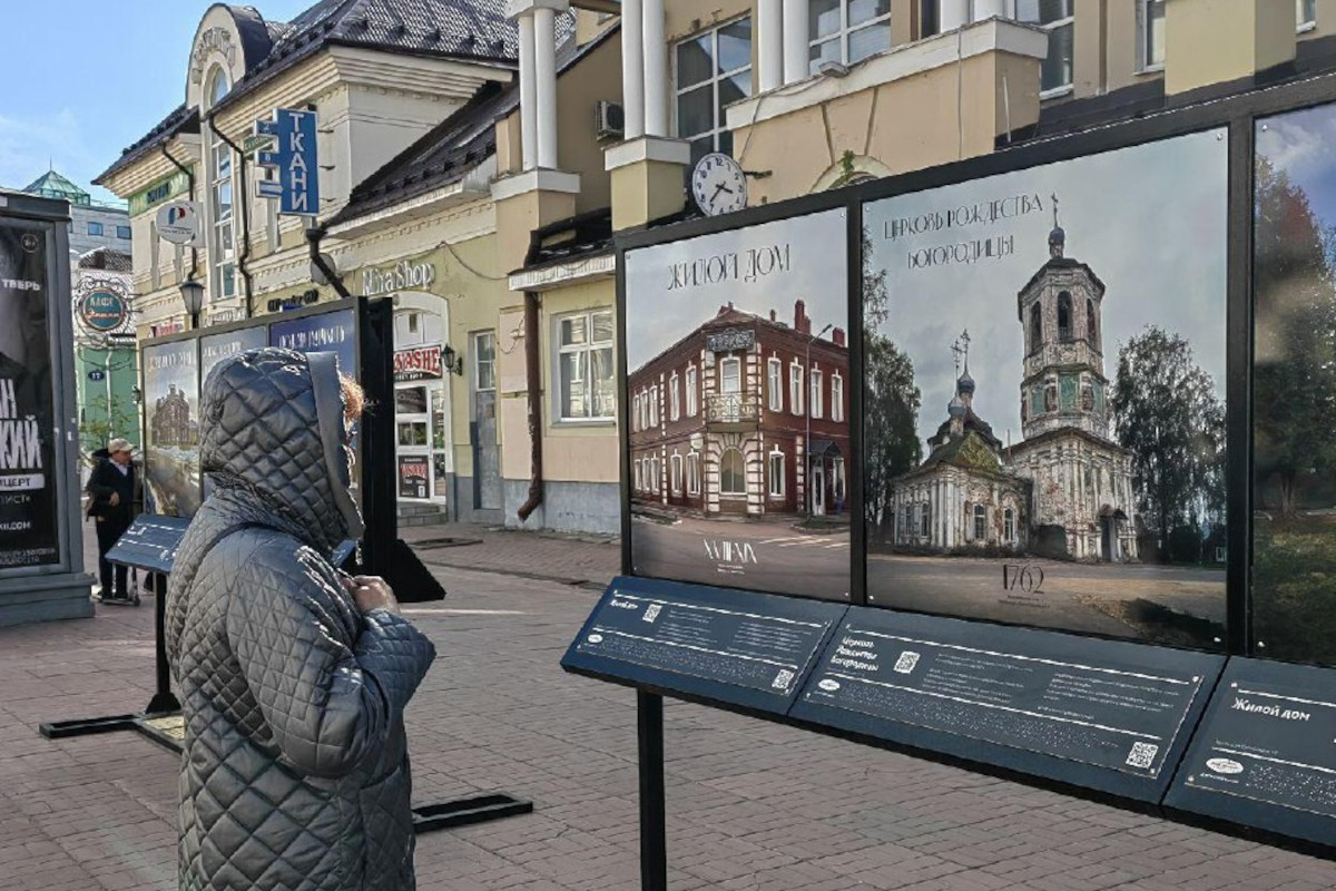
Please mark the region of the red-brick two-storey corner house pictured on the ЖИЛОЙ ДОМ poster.
POLYGON ((732 305, 631 373, 632 500, 696 516, 846 516, 848 346, 732 305))

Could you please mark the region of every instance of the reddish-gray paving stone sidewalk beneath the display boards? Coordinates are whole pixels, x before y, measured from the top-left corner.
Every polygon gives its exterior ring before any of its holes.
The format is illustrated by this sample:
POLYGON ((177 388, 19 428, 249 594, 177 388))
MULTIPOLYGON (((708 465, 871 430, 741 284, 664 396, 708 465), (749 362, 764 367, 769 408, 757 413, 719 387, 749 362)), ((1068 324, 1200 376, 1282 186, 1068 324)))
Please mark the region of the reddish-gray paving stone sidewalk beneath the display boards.
MULTIPOLYGON (((552 570, 545 540, 506 542, 513 566, 552 570)), ((636 888, 635 696, 557 665, 596 593, 438 574, 450 597, 406 608, 440 651, 407 716, 417 801, 506 791, 536 812, 421 836, 418 887, 636 888)), ((0 629, 5 891, 175 887, 176 756, 35 729, 147 703, 152 598, 98 612, 0 629)), ((792 728, 681 703, 665 724, 673 891, 1336 887, 1329 862, 792 728)))

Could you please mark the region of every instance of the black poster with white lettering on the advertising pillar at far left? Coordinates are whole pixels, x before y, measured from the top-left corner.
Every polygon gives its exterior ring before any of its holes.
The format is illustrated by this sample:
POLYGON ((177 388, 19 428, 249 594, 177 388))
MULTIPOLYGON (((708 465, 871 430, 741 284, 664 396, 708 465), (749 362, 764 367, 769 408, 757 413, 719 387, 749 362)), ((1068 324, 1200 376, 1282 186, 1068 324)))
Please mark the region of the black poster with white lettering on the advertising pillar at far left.
POLYGON ((44 230, 0 224, 0 569, 60 561, 47 256, 44 230))

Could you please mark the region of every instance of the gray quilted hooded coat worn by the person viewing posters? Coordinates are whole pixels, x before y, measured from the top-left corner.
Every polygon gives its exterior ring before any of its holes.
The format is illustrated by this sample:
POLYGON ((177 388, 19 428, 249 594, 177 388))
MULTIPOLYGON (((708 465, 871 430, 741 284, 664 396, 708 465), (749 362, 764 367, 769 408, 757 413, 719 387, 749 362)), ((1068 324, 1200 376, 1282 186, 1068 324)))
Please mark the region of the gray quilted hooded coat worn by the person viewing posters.
POLYGON ((403 707, 436 651, 327 560, 362 530, 334 355, 230 357, 200 402, 215 489, 167 592, 180 888, 411 890, 403 707))

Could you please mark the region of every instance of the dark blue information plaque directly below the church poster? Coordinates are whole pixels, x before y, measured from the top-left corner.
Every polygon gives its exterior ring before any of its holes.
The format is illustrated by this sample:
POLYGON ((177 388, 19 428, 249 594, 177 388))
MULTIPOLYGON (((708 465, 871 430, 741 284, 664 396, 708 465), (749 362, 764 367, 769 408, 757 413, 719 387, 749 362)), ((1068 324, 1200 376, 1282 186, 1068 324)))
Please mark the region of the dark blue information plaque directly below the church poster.
POLYGON ((791 716, 1158 803, 1222 665, 851 606, 791 716))

